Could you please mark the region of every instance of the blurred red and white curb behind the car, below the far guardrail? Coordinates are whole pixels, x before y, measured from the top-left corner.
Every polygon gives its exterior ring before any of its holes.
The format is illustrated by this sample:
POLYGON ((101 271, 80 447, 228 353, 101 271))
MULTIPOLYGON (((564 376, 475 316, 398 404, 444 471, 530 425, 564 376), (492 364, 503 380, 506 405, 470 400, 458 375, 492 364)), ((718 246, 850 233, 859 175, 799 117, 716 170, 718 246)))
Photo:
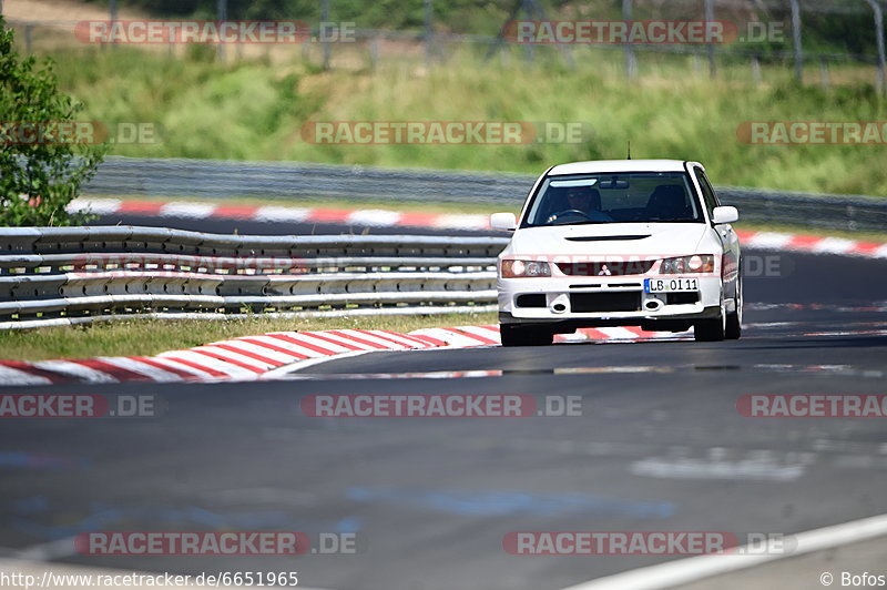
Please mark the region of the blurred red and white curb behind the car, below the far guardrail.
MULTIPOLYGON (((427 227, 431 230, 490 231, 489 216, 482 214, 440 214, 381 208, 324 208, 278 205, 225 205, 215 203, 125 201, 121 199, 77 199, 70 212, 91 211, 98 215, 145 215, 160 218, 239 220, 269 223, 320 223, 361 227, 427 227)), ((887 258, 887 243, 823 237, 777 232, 736 232, 743 247, 813 254, 840 254, 887 258)))

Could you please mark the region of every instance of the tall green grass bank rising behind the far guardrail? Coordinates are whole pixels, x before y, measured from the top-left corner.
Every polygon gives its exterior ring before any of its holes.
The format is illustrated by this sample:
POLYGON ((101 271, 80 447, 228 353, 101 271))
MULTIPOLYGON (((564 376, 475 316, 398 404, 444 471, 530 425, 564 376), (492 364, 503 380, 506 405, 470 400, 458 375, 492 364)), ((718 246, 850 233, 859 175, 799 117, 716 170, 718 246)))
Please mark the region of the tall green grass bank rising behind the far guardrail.
POLYGON ((745 121, 887 119, 871 68, 833 67, 824 91, 815 68, 801 87, 787 68, 765 64, 755 87, 745 62, 723 64, 713 82, 680 55, 641 55, 640 79, 630 82, 618 51, 575 48, 575 70, 541 50, 533 64, 518 50, 491 62, 459 51, 431 69, 404 58, 369 70, 350 51, 351 68, 333 72, 298 57, 216 64, 116 48, 55 58, 62 87, 88 104, 83 116, 160 125, 162 143, 119 145, 121 155, 539 173, 552 163, 624 157, 631 141, 634 157, 705 163, 716 184, 887 195, 886 146, 736 139, 745 121), (300 136, 306 121, 339 120, 582 122, 592 132, 581 143, 529 145, 315 145, 300 136))

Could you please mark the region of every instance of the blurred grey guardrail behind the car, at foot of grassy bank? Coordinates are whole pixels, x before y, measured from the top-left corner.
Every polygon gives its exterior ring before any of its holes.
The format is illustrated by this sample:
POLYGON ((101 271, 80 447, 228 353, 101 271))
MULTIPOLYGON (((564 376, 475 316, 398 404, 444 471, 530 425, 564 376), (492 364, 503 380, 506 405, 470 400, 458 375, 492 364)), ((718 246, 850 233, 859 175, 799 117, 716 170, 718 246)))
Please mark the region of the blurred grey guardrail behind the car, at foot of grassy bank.
MULTIPOLYGON (((262 197, 490 203, 519 208, 536 176, 434 170, 213 160, 110 157, 85 186, 88 195, 262 197)), ((725 204, 743 221, 845 231, 884 231, 887 199, 814 195, 725 186, 725 204)))

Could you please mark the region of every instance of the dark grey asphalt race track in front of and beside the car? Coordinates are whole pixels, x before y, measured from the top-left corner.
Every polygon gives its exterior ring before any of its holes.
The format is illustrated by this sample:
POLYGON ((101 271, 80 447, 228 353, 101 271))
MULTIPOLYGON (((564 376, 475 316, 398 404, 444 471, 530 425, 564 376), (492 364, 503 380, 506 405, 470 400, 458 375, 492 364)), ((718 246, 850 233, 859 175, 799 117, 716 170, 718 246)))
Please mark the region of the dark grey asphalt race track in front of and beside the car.
MULTIPOLYGON (((31 388, 151 395, 162 411, 6 420, 0 547, 118 569, 298 571, 300 586, 336 590, 554 590, 675 557, 513 556, 507 533, 744 540, 887 512, 883 418, 736 408, 747 394, 887 393, 887 261, 745 255, 775 263, 745 277, 738 342, 376 353, 248 385, 31 388), (581 415, 313 418, 299 407, 312 394, 578 396, 581 415), (72 540, 207 529, 355 533, 357 552, 96 557, 72 540)), ((820 587, 818 576, 799 581, 820 587)))

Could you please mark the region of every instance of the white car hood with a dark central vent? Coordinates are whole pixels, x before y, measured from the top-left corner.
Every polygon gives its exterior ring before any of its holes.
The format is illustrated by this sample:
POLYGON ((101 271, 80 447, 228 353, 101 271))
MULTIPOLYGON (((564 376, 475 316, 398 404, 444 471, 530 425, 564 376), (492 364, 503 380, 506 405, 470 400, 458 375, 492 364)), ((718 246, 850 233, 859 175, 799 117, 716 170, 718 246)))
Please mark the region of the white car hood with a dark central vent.
POLYGON ((704 223, 606 223, 517 230, 503 255, 680 256, 697 253, 704 223))

